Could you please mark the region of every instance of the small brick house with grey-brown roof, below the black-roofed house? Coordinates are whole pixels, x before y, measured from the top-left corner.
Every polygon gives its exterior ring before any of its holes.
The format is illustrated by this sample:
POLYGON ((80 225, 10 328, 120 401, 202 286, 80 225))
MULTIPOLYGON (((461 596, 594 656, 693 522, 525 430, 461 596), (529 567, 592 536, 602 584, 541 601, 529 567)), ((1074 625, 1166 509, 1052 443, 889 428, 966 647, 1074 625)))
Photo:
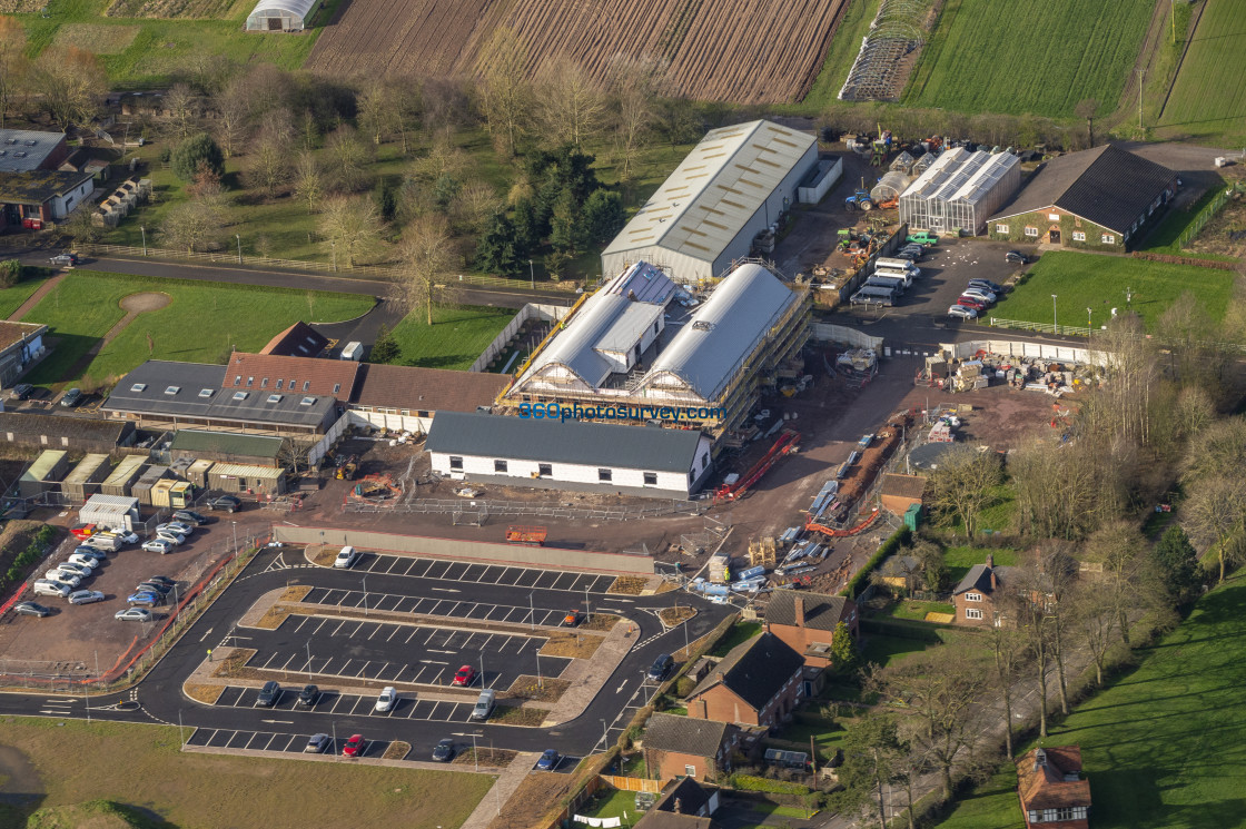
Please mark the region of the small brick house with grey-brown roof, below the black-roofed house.
POLYGON ((739 743, 739 728, 714 719, 653 714, 644 729, 645 763, 659 780, 706 780, 730 772, 739 743))

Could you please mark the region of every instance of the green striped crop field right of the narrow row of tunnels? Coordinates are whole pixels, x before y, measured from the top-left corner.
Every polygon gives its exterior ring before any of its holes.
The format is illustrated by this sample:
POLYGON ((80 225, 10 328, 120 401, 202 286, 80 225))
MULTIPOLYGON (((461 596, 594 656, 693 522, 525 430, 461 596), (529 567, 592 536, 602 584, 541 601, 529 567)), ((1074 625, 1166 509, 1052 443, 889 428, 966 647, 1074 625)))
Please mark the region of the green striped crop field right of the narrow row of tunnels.
POLYGON ((948 0, 903 103, 1070 117, 1095 98, 1105 115, 1154 9, 1153 0, 948 0))

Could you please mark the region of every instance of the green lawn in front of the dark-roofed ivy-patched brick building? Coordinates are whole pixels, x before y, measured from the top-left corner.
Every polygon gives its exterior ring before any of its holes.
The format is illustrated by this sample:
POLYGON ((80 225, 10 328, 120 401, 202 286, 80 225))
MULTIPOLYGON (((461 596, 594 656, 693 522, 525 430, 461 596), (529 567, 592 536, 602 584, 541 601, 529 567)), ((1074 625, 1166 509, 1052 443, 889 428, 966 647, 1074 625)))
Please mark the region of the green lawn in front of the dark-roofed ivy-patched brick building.
POLYGON ((1095 325, 1108 322, 1111 309, 1124 312, 1125 289, 1133 290, 1131 308, 1149 329, 1168 307, 1189 290, 1214 320, 1225 315, 1232 295, 1234 274, 1196 266, 1145 262, 1125 257, 1053 251, 998 305, 991 317, 1032 323, 1052 322, 1052 294, 1058 322, 1085 327, 1087 308, 1095 325))

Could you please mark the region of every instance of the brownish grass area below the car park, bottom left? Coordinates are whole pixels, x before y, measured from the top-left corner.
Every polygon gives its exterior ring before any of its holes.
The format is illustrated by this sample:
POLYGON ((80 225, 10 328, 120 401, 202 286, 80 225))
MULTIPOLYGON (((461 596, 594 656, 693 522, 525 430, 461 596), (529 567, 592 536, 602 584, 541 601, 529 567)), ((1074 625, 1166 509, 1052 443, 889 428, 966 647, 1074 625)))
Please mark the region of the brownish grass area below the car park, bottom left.
POLYGON ((188 829, 253 827, 257 815, 279 827, 451 829, 492 783, 483 774, 183 754, 178 729, 155 726, 6 717, 2 740, 37 770, 41 807, 107 798, 188 829))

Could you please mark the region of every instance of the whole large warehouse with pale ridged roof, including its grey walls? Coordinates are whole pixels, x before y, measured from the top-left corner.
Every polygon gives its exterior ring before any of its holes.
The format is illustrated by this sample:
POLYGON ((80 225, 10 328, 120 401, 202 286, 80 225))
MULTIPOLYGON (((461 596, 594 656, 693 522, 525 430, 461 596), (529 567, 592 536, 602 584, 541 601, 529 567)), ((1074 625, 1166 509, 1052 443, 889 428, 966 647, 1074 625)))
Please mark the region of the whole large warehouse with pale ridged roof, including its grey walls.
POLYGON ((680 283, 723 276, 816 162, 814 136, 770 121, 711 130, 602 252, 602 273, 644 261, 680 283))

